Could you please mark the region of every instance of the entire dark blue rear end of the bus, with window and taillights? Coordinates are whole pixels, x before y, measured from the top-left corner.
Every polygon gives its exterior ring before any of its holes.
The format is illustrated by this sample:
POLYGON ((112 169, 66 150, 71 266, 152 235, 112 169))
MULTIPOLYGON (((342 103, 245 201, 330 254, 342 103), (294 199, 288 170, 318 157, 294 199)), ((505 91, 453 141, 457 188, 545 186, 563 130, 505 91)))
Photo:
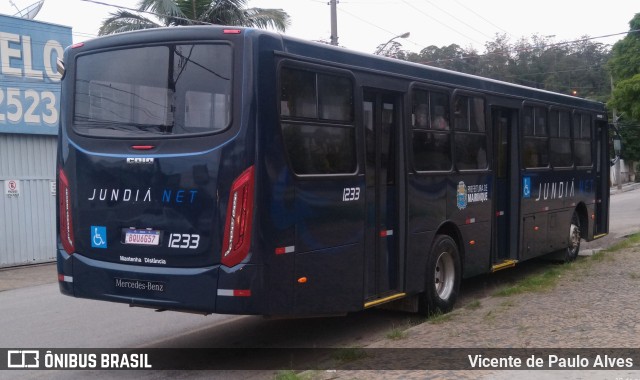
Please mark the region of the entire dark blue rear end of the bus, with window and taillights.
POLYGON ((255 138, 238 112, 251 79, 242 50, 222 29, 67 49, 63 293, 204 313, 261 309, 262 270, 250 252, 255 138))

